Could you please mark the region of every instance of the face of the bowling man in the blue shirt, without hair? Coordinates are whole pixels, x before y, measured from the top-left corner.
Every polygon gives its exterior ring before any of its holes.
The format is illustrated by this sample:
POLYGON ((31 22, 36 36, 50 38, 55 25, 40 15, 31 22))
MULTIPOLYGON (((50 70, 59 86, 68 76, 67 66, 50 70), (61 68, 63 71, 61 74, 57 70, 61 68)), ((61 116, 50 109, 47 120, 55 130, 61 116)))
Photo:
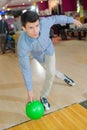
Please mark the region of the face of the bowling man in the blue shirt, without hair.
POLYGON ((38 38, 40 32, 40 21, 36 22, 27 22, 26 26, 23 27, 23 30, 27 32, 28 36, 31 38, 38 38))

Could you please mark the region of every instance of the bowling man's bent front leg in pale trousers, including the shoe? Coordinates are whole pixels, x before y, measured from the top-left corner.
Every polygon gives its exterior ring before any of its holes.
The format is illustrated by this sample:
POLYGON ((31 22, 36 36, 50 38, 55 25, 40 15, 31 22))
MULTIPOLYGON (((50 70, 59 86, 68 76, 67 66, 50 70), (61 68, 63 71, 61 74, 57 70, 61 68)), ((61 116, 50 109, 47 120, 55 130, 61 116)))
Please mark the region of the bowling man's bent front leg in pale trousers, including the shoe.
POLYGON ((41 64, 46 70, 46 76, 43 84, 43 89, 41 92, 40 100, 44 105, 45 110, 50 109, 50 103, 47 100, 47 96, 49 95, 54 77, 55 77, 55 54, 53 56, 45 56, 44 64, 41 64))

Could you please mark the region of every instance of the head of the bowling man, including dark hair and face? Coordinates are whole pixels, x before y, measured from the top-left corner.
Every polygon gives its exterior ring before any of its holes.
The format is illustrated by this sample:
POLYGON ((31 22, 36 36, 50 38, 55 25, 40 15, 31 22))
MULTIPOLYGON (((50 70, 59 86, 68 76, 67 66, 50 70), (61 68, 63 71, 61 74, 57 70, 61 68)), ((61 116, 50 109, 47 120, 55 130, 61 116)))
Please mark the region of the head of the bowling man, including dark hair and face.
POLYGON ((33 11, 27 11, 21 15, 23 30, 31 38, 38 38, 40 32, 39 15, 33 11))

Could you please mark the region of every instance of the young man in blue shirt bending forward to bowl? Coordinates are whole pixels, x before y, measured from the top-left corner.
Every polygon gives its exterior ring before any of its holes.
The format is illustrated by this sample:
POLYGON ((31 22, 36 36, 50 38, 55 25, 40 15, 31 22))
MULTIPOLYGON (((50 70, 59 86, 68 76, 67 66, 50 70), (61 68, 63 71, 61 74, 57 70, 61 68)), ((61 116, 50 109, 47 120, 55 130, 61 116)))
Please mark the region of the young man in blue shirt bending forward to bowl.
POLYGON ((25 86, 28 90, 28 100, 33 100, 31 57, 29 57, 29 55, 32 55, 32 58, 35 58, 46 70, 40 100, 45 110, 49 110, 50 103, 47 100, 47 96, 52 88, 55 75, 70 86, 75 85, 72 79, 55 69, 55 51, 52 40, 49 38, 50 28, 53 24, 74 23, 79 27, 82 24, 67 16, 55 15, 40 18, 36 12, 32 11, 23 13, 21 21, 24 32, 18 41, 18 58, 25 86))

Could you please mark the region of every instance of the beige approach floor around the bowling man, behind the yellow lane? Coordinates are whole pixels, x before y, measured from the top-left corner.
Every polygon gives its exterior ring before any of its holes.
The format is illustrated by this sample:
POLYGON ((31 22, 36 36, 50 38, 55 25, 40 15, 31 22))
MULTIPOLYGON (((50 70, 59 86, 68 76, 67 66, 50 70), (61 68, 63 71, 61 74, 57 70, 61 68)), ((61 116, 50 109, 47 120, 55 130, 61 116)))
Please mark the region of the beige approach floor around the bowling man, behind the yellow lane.
MULTIPOLYGON (((57 67, 76 81, 70 87, 64 81, 55 78, 48 100, 53 111, 87 100, 87 43, 84 41, 61 41, 55 44, 57 67)), ((45 77, 45 71, 33 61, 33 89, 35 99, 39 99, 45 77)), ((15 54, 0 55, 0 130, 30 120, 25 114, 27 91, 15 54)))

